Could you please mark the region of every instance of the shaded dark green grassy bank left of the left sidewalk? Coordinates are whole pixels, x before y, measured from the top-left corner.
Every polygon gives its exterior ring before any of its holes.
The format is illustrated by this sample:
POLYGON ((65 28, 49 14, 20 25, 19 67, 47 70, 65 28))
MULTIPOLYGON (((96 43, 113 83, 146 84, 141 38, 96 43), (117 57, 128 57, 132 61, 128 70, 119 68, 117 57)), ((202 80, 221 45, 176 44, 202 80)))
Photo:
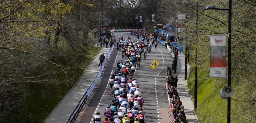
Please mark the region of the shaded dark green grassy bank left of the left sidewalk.
MULTIPOLYGON (((88 58, 84 62, 79 64, 83 64, 84 68, 86 68, 95 55, 101 50, 101 48, 95 48, 88 46, 86 47, 89 53, 86 55, 88 58)), ((65 62, 65 61, 62 61, 65 62)), ((47 67, 47 66, 46 66, 47 67)), ((74 86, 74 84, 78 81, 79 77, 82 75, 84 68, 76 68, 76 74, 71 75, 74 78, 67 84, 62 83, 58 85, 44 85, 39 83, 32 83, 29 87, 24 88, 26 90, 27 96, 21 102, 22 108, 24 111, 22 113, 12 111, 12 113, 6 115, 4 120, 0 122, 42 122, 45 118, 51 113, 51 111, 56 107, 59 101, 66 95, 66 93, 74 86)), ((64 74, 58 75, 60 78, 64 76, 64 74)))

